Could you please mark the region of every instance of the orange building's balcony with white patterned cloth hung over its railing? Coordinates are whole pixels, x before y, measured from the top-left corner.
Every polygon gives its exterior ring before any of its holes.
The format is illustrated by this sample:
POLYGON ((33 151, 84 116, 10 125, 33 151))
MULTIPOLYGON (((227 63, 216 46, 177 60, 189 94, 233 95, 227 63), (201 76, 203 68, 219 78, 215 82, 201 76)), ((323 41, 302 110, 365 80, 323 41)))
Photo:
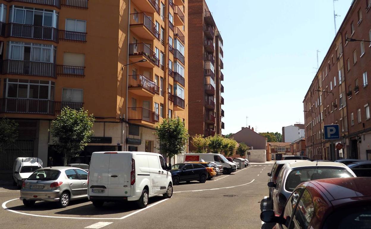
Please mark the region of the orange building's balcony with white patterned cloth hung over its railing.
POLYGON ((160 88, 144 75, 129 75, 129 91, 140 96, 159 94, 160 88))

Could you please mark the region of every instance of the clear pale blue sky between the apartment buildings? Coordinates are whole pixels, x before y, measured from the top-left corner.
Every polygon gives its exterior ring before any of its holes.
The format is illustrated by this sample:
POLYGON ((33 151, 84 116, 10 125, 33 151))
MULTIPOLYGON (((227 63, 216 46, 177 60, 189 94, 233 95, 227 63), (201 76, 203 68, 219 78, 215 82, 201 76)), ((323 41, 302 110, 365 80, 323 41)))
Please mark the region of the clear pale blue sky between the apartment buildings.
MULTIPOLYGON (((303 99, 335 36, 332 0, 206 0, 224 52, 223 134, 304 122, 303 99)), ((339 28, 352 0, 335 1, 339 28)))

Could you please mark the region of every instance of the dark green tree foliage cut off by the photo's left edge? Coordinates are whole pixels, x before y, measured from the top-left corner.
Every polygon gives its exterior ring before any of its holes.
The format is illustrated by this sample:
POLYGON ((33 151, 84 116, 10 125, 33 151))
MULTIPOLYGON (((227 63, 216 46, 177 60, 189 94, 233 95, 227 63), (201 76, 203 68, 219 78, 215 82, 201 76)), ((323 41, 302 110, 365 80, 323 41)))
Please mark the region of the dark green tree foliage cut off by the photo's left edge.
POLYGON ((9 118, 0 119, 0 153, 4 151, 6 144, 12 144, 17 140, 18 123, 9 118))

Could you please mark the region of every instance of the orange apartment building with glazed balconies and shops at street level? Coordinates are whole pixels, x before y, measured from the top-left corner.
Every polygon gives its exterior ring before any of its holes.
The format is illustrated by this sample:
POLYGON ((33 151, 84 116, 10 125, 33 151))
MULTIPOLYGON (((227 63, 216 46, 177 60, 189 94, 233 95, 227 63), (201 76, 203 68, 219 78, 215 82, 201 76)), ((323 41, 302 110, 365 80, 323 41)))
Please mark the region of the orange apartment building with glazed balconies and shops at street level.
POLYGON ((155 125, 187 125, 187 2, 0 0, 0 117, 19 123, 16 157, 61 160, 48 129, 63 107, 93 114, 94 151, 158 152, 155 125))

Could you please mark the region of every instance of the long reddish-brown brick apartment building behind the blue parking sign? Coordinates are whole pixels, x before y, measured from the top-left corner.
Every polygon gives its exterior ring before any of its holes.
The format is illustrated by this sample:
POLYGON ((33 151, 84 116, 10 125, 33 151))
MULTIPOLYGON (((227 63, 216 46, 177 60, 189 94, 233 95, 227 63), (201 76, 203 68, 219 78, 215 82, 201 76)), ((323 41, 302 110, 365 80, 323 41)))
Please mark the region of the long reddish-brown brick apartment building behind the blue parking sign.
POLYGON ((309 157, 371 159, 368 74, 371 0, 355 0, 303 101, 309 157), (324 140, 324 125, 339 124, 339 140, 324 140), (335 145, 341 143, 340 150, 335 145))

